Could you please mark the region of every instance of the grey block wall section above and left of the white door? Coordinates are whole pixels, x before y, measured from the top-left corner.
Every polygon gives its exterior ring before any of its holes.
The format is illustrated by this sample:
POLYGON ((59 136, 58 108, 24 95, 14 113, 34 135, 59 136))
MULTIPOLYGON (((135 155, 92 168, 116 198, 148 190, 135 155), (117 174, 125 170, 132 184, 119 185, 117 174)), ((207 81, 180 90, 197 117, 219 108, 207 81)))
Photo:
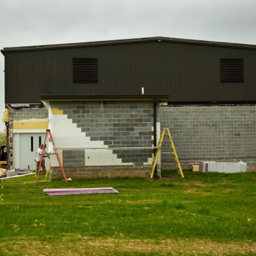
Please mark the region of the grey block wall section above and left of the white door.
POLYGON ((30 119, 48 119, 48 110, 46 108, 13 108, 13 112, 9 111, 9 133, 10 133, 10 169, 13 169, 13 122, 28 121, 30 119), (14 112, 14 113, 13 113, 14 112))

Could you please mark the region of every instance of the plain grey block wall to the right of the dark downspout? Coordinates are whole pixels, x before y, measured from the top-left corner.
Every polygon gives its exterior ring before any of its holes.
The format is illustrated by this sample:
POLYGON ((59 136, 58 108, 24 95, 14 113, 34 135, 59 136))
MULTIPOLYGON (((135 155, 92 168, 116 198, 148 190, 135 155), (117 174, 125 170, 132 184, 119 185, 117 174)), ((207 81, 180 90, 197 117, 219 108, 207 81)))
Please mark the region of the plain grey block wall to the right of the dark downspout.
MULTIPOLYGON (((182 168, 200 160, 256 166, 256 106, 163 106, 161 129, 169 128, 182 168)), ((162 152, 170 152, 167 136, 162 152)), ((161 155, 162 168, 175 168, 171 154, 161 155)))

